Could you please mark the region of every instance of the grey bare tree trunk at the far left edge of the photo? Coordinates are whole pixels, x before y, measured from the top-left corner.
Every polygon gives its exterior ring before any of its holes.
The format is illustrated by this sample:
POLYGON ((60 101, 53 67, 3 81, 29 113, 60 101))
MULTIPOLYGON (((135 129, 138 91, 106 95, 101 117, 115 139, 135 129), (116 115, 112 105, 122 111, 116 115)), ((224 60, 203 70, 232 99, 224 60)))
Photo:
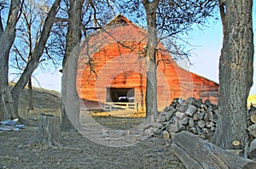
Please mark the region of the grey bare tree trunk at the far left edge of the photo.
POLYGON ((19 20, 20 0, 12 0, 9 19, 5 29, 2 20, 0 27, 0 120, 18 116, 15 114, 13 99, 9 93, 9 51, 15 41, 15 27, 19 20), (3 31, 4 30, 4 31, 3 31))

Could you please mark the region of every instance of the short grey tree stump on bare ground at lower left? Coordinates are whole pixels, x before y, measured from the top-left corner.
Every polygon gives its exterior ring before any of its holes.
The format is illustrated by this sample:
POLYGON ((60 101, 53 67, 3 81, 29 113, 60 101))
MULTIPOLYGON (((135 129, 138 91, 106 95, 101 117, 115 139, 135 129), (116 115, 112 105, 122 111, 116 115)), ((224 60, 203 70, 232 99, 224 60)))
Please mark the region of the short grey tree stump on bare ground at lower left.
POLYGON ((40 115, 39 127, 33 144, 61 146, 61 120, 53 115, 40 115))

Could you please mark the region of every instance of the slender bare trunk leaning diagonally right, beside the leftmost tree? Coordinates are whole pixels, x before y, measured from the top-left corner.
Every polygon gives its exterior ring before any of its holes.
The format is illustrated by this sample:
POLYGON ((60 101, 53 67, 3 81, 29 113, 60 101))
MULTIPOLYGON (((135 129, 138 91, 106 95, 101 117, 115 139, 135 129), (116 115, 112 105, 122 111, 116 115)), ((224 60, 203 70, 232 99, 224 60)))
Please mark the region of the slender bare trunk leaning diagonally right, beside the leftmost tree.
POLYGON ((37 46, 35 47, 32 53, 32 57, 31 59, 29 59, 25 70, 20 76, 19 81, 15 84, 15 87, 13 87, 11 91, 12 97, 14 99, 14 107, 16 114, 18 113, 20 93, 22 92, 24 87, 26 87, 26 84, 31 78, 33 71, 38 68, 39 60, 42 54, 44 53, 44 47, 48 40, 51 27, 54 24, 55 14, 60 6, 60 2, 61 0, 55 0, 55 3, 49 9, 49 13, 47 14, 47 17, 44 21, 44 27, 41 32, 41 36, 39 38, 37 46))

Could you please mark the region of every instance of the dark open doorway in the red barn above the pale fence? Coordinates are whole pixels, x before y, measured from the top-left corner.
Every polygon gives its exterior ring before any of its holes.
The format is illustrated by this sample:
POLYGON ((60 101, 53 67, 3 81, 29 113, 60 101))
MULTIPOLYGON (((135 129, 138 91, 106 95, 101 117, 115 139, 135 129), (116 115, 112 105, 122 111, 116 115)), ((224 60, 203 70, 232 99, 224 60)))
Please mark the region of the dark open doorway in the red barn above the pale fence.
POLYGON ((134 102, 134 88, 107 87, 107 102, 134 102))

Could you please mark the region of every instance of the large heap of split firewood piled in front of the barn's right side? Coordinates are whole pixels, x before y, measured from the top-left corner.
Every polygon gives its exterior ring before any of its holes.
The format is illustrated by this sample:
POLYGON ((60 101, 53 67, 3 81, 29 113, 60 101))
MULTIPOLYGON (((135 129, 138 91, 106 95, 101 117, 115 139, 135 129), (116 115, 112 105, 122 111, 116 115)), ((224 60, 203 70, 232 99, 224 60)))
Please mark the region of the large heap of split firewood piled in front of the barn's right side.
POLYGON ((210 100, 189 98, 173 99, 172 104, 166 107, 157 117, 162 124, 159 134, 170 138, 175 132, 189 131, 203 139, 210 139, 216 129, 218 106, 210 100))

